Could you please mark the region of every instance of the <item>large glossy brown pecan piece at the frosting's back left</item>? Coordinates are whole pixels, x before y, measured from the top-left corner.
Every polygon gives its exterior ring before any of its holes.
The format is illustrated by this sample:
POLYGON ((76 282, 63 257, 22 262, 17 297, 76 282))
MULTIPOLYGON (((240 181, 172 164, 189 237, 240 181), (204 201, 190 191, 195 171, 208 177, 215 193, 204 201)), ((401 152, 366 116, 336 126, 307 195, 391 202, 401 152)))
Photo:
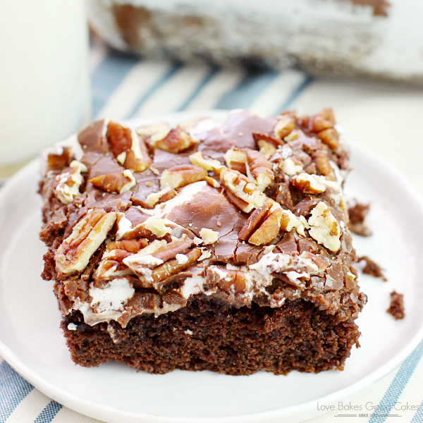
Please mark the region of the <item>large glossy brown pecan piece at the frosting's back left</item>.
POLYGON ((134 172, 142 172, 152 163, 145 142, 135 130, 130 130, 130 128, 115 122, 109 122, 107 137, 111 151, 125 168, 134 172))

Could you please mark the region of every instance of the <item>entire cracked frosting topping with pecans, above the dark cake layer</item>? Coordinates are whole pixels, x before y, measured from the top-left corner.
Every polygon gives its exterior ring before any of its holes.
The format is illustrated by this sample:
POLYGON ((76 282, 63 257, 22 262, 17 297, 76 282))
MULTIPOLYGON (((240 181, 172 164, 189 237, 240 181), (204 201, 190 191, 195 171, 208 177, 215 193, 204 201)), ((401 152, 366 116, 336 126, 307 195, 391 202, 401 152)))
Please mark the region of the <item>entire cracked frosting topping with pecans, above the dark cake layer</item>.
POLYGON ((82 155, 71 146, 45 154, 42 276, 63 314, 79 310, 90 325, 125 327, 195 295, 234 307, 302 298, 355 319, 366 296, 352 266, 339 138, 331 109, 238 110, 221 125, 176 128, 91 123, 78 135, 82 155))

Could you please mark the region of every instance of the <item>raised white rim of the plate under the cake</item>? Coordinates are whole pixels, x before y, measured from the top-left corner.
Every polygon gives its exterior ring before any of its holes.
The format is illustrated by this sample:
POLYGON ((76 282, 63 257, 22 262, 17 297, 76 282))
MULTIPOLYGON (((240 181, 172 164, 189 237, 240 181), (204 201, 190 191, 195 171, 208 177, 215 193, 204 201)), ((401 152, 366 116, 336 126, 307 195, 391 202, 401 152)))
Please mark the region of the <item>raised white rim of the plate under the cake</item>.
MULTIPOLYGON (((180 118, 181 120, 188 116, 188 118, 195 118, 195 116, 210 116, 211 118, 217 119, 225 116, 228 114, 228 110, 206 110, 206 111, 179 111, 173 112, 168 114, 161 114, 157 116, 149 116, 144 118, 134 118, 128 119, 125 121, 121 121, 123 123, 127 123, 128 125, 139 125, 141 122, 154 122, 158 120, 169 120, 169 119, 176 119, 180 118)), ((143 123, 142 123, 143 124, 143 123)), ((75 136, 75 134, 71 135, 75 136)), ((346 142, 348 148, 351 150, 357 151, 359 154, 363 154, 364 156, 368 157, 372 161, 374 161, 378 166, 386 169, 389 173, 391 173, 403 187, 405 194, 410 197, 410 200, 415 203, 415 205, 419 208, 419 212, 423 214, 423 199, 415 190, 415 188, 411 185, 410 181, 405 178, 403 173, 400 173, 396 168, 394 168, 391 164, 387 161, 379 157, 374 152, 370 151, 369 149, 358 145, 351 140, 346 142)), ((18 183, 20 180, 25 180, 25 175, 27 173, 31 173, 34 171, 34 167, 36 165, 39 166, 40 161, 39 157, 33 159, 28 164, 26 164, 23 168, 21 168, 17 173, 15 173, 11 178, 9 178, 6 183, 0 188, 0 202, 4 200, 4 197, 7 197, 8 192, 13 188, 13 185, 18 183)), ((303 415, 306 415, 307 412, 312 412, 317 401, 324 402, 325 404, 336 403, 336 401, 344 399, 344 398, 356 398, 360 395, 361 392, 367 391, 371 388, 372 385, 376 384, 377 381, 382 379, 388 373, 396 369, 403 362, 408 355, 412 353, 413 350, 417 347, 417 345, 423 339, 423 322, 420 325, 419 329, 415 332, 414 336, 408 341, 407 344, 403 345, 403 348, 396 353, 391 359, 386 361, 384 364, 381 364, 380 367, 375 369, 374 371, 370 372, 366 376, 363 376, 361 379, 353 382, 350 386, 345 388, 341 388, 338 391, 333 393, 329 393, 326 396, 322 396, 321 398, 317 398, 314 400, 306 401, 305 403, 298 403, 295 405, 288 405, 286 407, 277 408, 275 410, 268 410, 263 412, 254 412, 249 414, 238 414, 238 415, 231 415, 225 417, 171 417, 171 416, 161 416, 161 415, 152 415, 149 413, 140 413, 140 412, 131 412, 127 410, 121 410, 117 407, 112 407, 110 405, 104 405, 102 403, 97 403, 92 400, 87 400, 81 396, 77 396, 73 393, 70 393, 63 388, 59 388, 51 382, 44 379, 42 376, 37 374, 34 370, 32 370, 27 364, 25 364, 24 360, 21 360, 16 353, 11 350, 11 348, 6 345, 0 339, 0 355, 4 358, 8 364, 13 367, 13 369, 18 372, 21 376, 24 377, 27 381, 30 382, 35 388, 39 391, 47 395, 49 398, 56 400, 58 403, 65 405, 71 410, 75 412, 80 412, 83 415, 87 415, 94 419, 104 419, 106 415, 114 418, 125 418, 128 419, 128 422, 164 422, 164 423, 190 423, 190 422, 201 422, 201 423, 211 423, 211 422, 228 422, 228 423, 235 423, 235 422, 256 422, 256 421, 264 421, 265 419, 272 419, 272 418, 281 418, 281 417, 295 417, 295 415, 299 415, 300 412, 303 415), (71 403, 71 404, 70 404, 71 403)), ((315 410, 314 410, 315 411, 315 410)), ((326 412, 325 412, 326 413, 326 412)), ((324 413, 320 413, 324 414, 324 413)), ((311 418, 316 416, 317 414, 314 412, 310 417, 311 418)), ((112 421, 112 420, 110 420, 112 421)), ((114 420, 113 420, 114 421, 114 420)))

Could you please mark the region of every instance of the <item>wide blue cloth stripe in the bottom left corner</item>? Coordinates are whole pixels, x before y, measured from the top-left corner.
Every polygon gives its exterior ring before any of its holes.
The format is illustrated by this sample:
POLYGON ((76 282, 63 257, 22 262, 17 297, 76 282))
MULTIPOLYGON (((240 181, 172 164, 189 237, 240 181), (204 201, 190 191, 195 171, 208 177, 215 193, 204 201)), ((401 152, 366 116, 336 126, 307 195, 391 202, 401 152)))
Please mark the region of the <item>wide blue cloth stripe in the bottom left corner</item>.
POLYGON ((20 401, 34 389, 6 362, 0 364, 0 423, 6 422, 20 401))

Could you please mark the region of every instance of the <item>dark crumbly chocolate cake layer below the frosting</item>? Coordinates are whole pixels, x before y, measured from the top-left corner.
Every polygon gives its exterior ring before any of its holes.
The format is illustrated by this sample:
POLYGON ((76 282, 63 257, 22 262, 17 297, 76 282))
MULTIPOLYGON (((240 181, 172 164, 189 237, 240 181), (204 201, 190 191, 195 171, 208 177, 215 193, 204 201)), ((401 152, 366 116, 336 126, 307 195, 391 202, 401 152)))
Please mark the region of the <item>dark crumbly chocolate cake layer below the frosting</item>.
POLYGON ((119 324, 112 331, 105 323, 97 326, 85 324, 80 312, 63 319, 76 363, 91 367, 116 360, 149 373, 341 370, 360 336, 353 321, 333 318, 305 300, 277 309, 236 308, 207 296, 157 318, 135 317, 124 330, 119 324), (70 331, 69 325, 77 329, 70 331))

